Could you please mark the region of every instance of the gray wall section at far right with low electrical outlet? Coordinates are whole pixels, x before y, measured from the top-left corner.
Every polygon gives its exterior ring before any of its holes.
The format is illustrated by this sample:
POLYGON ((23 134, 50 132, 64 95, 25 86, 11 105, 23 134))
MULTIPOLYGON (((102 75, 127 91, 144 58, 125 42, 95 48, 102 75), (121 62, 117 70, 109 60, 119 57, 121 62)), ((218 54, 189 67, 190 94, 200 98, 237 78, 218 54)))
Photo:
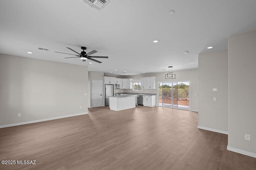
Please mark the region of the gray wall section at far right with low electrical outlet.
POLYGON ((256 156, 256 30, 228 37, 228 147, 256 156), (251 141, 244 140, 244 134, 251 141))

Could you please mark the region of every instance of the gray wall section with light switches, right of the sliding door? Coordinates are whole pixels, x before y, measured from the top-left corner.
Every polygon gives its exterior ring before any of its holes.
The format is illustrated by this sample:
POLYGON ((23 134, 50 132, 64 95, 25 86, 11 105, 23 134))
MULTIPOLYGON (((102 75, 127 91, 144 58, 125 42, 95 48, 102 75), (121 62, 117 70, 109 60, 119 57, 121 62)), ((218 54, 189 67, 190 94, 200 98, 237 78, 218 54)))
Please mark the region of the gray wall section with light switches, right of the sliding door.
POLYGON ((198 91, 198 127, 227 134, 228 50, 198 55, 198 91))

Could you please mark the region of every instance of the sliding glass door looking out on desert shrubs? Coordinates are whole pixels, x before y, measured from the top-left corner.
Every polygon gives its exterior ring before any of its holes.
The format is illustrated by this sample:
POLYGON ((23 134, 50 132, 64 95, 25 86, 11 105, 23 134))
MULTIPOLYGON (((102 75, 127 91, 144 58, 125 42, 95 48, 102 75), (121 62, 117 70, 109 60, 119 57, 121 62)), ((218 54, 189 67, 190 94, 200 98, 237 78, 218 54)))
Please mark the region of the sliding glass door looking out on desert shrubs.
POLYGON ((158 106, 190 109, 190 82, 159 82, 158 106))

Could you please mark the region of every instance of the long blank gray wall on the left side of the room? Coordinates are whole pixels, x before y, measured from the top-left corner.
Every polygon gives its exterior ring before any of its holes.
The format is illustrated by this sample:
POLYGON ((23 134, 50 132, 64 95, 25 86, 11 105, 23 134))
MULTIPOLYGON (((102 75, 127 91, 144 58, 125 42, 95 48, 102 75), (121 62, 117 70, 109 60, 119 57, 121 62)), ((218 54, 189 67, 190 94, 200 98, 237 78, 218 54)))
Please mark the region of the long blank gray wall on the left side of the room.
POLYGON ((87 113, 87 81, 87 66, 0 54, 0 125, 87 113))

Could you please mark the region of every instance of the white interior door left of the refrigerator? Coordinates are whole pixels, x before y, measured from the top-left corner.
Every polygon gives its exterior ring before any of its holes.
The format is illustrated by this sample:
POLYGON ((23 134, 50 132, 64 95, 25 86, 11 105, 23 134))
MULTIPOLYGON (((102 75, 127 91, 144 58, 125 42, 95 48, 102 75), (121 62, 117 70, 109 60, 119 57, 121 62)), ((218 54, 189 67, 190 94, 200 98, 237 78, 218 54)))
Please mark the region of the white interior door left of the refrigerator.
POLYGON ((102 89, 102 80, 92 80, 92 107, 103 106, 102 89))

